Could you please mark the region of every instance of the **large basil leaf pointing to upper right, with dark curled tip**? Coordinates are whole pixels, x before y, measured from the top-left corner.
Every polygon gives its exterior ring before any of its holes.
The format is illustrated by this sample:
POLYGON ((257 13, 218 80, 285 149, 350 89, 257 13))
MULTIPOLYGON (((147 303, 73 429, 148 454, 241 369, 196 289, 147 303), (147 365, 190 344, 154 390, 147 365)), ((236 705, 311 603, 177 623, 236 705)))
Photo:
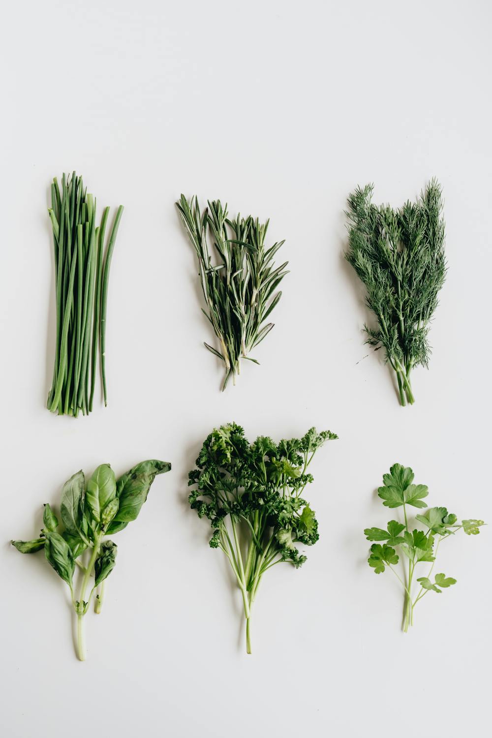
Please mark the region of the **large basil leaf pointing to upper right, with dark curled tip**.
MULTIPOLYGON (((167 461, 141 461, 129 472, 119 477, 117 481, 117 497, 119 509, 113 521, 108 526, 108 534, 114 533, 115 523, 130 523, 138 516, 143 503, 147 500, 150 485, 156 475, 169 472, 171 468, 167 461)), ((118 528, 121 529, 121 528, 118 528)))

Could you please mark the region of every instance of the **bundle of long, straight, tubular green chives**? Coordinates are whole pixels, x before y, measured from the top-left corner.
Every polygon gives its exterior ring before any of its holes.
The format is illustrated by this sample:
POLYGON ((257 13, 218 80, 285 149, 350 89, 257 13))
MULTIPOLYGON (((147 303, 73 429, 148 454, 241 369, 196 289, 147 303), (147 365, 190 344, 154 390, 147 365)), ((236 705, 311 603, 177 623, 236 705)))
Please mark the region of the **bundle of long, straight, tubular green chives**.
POLYGON ((48 409, 58 415, 91 412, 100 349, 104 404, 108 404, 105 375, 105 331, 108 281, 114 242, 121 220, 120 205, 108 247, 104 235, 109 208, 96 227, 96 199, 83 187, 82 177, 63 174, 61 194, 55 177, 48 209, 55 246, 56 345, 53 383, 48 409), (89 369, 90 365, 90 369, 89 369), (89 391, 90 373, 90 391, 89 391))

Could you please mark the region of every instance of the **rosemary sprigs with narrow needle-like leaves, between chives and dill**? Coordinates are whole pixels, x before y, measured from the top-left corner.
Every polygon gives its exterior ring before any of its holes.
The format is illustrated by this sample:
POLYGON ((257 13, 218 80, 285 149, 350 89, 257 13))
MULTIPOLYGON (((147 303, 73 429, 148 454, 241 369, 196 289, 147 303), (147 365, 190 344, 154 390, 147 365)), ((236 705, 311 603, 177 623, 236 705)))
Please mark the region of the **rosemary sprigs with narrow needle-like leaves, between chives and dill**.
MULTIPOLYGON (((207 310, 204 314, 212 324, 218 338, 218 350, 204 343, 212 354, 224 362, 225 390, 229 377, 236 383, 240 373, 240 360, 249 359, 258 364, 249 352, 257 346, 274 327, 265 323, 277 305, 282 292, 274 294, 288 272, 287 261, 274 268, 274 255, 284 241, 265 247, 268 222, 260 224, 258 218, 227 218, 227 205, 220 200, 209 201, 202 214, 198 199, 190 203, 184 195, 176 202, 181 221, 190 236, 198 256, 198 274, 207 310), (219 263, 212 263, 208 238, 212 238, 219 263)), ((203 309, 203 308, 202 308, 203 309)))

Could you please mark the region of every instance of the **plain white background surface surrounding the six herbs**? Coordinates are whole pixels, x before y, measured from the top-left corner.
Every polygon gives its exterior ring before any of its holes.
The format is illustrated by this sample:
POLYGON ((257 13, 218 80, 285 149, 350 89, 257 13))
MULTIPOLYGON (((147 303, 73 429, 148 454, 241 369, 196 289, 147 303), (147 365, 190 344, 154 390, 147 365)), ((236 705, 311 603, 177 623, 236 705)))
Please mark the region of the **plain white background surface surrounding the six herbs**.
MULTIPOLYGON (((412 632, 362 530, 391 514, 375 489, 395 461, 429 502, 492 520, 490 449, 491 28, 483 1, 10 3, 2 21, 1 678, 13 738, 483 734, 490 701, 490 528, 443 545, 412 632), (49 182, 83 173, 100 211, 125 204, 108 306, 109 406, 45 408, 54 286, 49 182), (364 293, 344 263, 356 184, 446 199, 448 278, 416 404, 399 407, 364 346, 364 293), (221 198, 271 218, 290 262, 275 328, 237 387, 201 314, 174 201, 221 198), (249 438, 315 424, 340 440, 313 463, 320 539, 299 571, 260 587, 252 656, 241 604, 187 472, 212 427, 249 438), (67 591, 33 537, 42 503, 81 467, 172 461, 116 537, 103 614, 72 647, 67 591), (417 726, 417 727, 416 727, 417 726)), ((394 580, 394 581, 393 581, 394 580)))

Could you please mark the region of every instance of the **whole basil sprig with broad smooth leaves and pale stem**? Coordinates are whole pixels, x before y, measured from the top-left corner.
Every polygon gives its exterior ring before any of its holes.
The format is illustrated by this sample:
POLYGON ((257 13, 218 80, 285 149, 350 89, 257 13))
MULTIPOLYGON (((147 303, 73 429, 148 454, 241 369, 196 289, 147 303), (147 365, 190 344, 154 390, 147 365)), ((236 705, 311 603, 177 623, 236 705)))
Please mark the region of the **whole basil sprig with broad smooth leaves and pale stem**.
POLYGON ((77 472, 63 486, 60 520, 45 505, 41 536, 32 541, 12 541, 21 554, 44 548, 52 568, 69 585, 77 613, 80 661, 86 658, 83 617, 96 590, 95 611, 100 613, 105 579, 116 564, 117 545, 105 537, 122 531, 136 519, 156 475, 169 472, 170 468, 170 463, 165 461, 141 461, 117 480, 111 466, 104 463, 97 467, 87 484, 83 472, 77 472), (73 581, 76 565, 82 578, 78 596, 73 581))

